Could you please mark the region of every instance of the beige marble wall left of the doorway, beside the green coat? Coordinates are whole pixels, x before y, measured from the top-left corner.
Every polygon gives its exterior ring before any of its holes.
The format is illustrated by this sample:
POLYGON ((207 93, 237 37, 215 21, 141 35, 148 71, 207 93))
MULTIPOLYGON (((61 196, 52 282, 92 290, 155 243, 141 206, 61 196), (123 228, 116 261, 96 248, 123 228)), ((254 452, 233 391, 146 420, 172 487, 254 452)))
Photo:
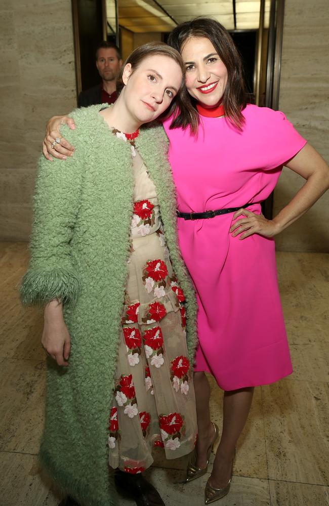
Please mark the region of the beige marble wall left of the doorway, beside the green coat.
POLYGON ((46 120, 76 105, 70 0, 2 0, 0 41, 0 239, 27 240, 46 120))

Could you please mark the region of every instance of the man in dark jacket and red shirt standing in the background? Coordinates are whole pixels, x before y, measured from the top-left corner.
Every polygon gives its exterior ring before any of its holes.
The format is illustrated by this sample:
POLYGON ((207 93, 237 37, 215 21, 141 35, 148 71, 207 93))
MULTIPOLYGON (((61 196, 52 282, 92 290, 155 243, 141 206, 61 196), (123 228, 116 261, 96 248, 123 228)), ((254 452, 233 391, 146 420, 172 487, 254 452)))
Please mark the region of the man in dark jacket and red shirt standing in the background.
POLYGON ((96 67, 102 78, 100 85, 81 92, 78 107, 94 104, 113 104, 117 99, 116 77, 122 67, 120 50, 112 42, 102 42, 96 50, 96 67))

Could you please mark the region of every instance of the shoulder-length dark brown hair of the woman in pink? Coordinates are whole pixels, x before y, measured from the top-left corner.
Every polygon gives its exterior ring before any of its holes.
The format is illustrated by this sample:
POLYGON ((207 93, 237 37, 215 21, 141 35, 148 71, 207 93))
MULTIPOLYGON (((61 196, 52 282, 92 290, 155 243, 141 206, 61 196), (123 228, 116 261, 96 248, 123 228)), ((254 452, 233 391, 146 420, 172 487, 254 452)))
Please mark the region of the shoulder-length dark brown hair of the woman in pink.
MULTIPOLYGON (((181 52, 184 43, 190 37, 206 37, 213 44, 216 52, 227 69, 227 84, 222 104, 225 115, 238 128, 242 129, 242 110, 247 103, 247 93, 243 82, 241 57, 234 45, 231 35, 218 21, 207 17, 197 17, 176 26, 170 33, 168 44, 181 52)), ((190 126, 192 132, 197 131, 199 115, 195 109, 196 100, 190 97, 192 110, 181 109, 174 118, 170 128, 186 128, 190 126)))

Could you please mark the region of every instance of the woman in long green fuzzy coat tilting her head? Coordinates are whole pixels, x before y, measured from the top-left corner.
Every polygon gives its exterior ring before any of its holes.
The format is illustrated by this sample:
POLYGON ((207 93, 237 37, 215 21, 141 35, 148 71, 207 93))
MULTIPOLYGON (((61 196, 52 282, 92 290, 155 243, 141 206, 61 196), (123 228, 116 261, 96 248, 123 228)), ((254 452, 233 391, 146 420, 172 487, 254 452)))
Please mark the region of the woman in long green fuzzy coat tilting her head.
POLYGON ((45 305, 40 459, 71 497, 63 504, 116 504, 111 469, 137 504, 164 504, 142 475, 152 447, 176 458, 195 444, 196 304, 177 246, 168 140, 161 126, 139 130, 185 105, 184 72, 174 49, 138 48, 113 106, 72 113, 65 171, 39 160, 21 297, 45 305))

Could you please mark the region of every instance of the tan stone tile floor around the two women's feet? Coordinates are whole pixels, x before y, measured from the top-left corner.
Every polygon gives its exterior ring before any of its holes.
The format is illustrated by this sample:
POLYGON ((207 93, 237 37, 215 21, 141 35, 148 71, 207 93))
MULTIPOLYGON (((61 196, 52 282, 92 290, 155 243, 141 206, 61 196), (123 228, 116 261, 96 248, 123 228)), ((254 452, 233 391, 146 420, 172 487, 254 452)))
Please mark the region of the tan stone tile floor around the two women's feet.
MULTIPOLYGON (((255 391, 221 506, 329 504, 329 255, 278 252, 277 264, 294 373, 255 391)), ((26 244, 0 243, 1 506, 55 506, 59 496, 39 474, 44 352, 40 310, 21 308, 17 284, 26 244)), ((212 416, 221 423, 222 393, 212 384, 212 416)), ((182 484, 186 459, 159 453, 148 472, 167 506, 201 506, 207 475, 182 484)), ((122 501, 122 506, 135 502, 122 501)))

